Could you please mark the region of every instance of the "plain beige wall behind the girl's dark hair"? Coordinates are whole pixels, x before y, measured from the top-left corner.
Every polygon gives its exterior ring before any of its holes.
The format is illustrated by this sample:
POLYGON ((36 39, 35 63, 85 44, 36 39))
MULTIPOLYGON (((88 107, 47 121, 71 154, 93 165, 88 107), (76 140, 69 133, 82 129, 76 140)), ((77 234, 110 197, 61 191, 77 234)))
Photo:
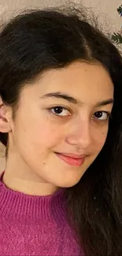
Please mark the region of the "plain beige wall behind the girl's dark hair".
MULTIPOLYGON (((70 2, 70 1, 67 1, 70 2)), ((72 1, 73 2, 73 1, 72 1)), ((74 0, 74 2, 81 2, 81 0, 74 0)), ((17 9, 36 8, 43 6, 55 6, 59 4, 64 4, 64 1, 59 0, 1 0, 0 1, 0 17, 6 20, 9 16, 17 13, 17 9)), ((122 18, 117 14, 116 9, 122 4, 122 0, 83 0, 83 5, 86 7, 92 7, 96 15, 99 16, 101 20, 104 20, 104 28, 112 31, 120 29, 122 24, 122 18), (109 28, 108 28, 109 25, 109 28)), ((5 168, 5 158, 4 158, 4 147, 0 144, 0 171, 5 168)))

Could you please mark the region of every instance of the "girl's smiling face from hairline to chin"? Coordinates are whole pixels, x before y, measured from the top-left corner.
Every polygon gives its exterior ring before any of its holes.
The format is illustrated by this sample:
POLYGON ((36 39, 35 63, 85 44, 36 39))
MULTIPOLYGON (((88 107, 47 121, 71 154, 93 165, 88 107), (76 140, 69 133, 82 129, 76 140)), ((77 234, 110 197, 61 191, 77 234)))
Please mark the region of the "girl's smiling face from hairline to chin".
POLYGON ((77 61, 46 71, 21 92, 6 169, 23 180, 74 186, 102 150, 112 107, 113 83, 102 65, 77 61))

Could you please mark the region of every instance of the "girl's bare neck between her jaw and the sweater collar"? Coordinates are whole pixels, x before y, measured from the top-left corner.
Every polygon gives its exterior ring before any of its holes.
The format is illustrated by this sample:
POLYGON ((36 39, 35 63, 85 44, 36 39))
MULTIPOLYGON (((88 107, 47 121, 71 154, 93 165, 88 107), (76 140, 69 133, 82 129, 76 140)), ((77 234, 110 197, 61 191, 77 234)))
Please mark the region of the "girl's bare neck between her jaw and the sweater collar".
POLYGON ((2 180, 10 189, 27 195, 53 195, 58 190, 58 187, 47 183, 36 173, 14 172, 14 169, 9 168, 6 168, 2 180))

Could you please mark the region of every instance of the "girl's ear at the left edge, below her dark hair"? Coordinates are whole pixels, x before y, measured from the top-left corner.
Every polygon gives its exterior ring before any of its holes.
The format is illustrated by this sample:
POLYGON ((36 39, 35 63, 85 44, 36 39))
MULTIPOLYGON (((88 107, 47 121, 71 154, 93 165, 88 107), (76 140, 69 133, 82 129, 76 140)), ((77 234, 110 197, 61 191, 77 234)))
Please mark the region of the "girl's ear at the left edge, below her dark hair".
POLYGON ((0 132, 10 132, 10 112, 9 108, 2 102, 0 96, 0 132))

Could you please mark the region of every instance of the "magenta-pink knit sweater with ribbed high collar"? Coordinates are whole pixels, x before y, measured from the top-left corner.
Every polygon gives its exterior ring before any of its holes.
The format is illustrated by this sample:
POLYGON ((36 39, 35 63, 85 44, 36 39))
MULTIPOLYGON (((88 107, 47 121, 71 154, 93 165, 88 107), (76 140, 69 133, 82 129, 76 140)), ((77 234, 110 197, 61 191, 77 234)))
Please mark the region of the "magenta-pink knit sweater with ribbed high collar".
POLYGON ((83 255, 65 218, 63 190, 26 195, 0 176, 0 255, 83 255))

